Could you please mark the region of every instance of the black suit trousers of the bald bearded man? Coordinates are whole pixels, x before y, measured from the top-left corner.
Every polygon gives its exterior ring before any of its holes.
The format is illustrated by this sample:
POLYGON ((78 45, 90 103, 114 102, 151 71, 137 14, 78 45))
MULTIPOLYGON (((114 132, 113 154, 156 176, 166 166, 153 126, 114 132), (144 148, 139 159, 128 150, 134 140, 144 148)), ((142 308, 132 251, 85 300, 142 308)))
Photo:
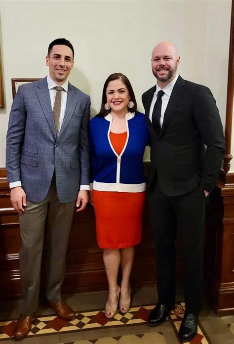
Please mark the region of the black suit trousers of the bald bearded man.
POLYGON ((175 239, 181 250, 186 311, 199 313, 203 299, 203 232, 205 194, 197 189, 166 196, 158 184, 148 193, 155 238, 159 302, 175 300, 175 239))

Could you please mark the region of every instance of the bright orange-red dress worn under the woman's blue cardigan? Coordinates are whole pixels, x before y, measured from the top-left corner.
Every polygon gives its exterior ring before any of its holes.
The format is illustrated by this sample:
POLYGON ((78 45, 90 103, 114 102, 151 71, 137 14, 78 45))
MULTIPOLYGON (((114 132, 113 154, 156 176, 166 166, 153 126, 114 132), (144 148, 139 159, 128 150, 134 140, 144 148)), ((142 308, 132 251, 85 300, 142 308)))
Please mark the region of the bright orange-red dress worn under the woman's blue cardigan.
MULTIPOLYGON (((110 132, 111 143, 120 155, 127 132, 110 132)), ((121 249, 139 244, 146 191, 112 192, 93 190, 98 246, 121 249)))

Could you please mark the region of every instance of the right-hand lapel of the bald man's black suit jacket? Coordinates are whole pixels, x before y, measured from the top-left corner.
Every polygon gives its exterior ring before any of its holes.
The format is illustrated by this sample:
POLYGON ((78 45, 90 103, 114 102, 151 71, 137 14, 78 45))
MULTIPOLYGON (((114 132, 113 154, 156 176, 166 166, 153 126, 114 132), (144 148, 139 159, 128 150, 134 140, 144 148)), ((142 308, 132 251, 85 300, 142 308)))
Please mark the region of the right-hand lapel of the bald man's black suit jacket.
POLYGON ((175 86, 173 87, 170 99, 168 101, 168 104, 164 113, 162 128, 160 130, 158 137, 160 137, 166 130, 170 122, 171 116, 175 112, 175 109, 180 101, 180 98, 182 94, 184 93, 184 90, 185 90, 184 86, 185 86, 185 81, 184 79, 181 78, 181 76, 179 76, 175 83, 175 86))

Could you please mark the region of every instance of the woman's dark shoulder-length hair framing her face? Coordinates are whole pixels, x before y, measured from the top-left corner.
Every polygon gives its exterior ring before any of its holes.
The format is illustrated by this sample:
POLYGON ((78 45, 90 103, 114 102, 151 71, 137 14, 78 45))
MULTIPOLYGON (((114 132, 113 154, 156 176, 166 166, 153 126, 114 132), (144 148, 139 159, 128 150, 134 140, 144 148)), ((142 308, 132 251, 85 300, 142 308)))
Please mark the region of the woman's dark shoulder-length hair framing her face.
POLYGON ((105 104, 107 102, 106 91, 107 91, 107 86, 110 83, 110 81, 114 81, 114 80, 121 80, 123 82, 123 84, 127 87, 127 90, 129 92, 129 95, 130 95, 130 100, 133 101, 133 103, 134 103, 133 108, 128 108, 128 110, 130 112, 135 112, 136 109, 137 109, 137 102, 136 102, 135 94, 133 92, 133 89, 132 89, 132 86, 130 84, 130 81, 122 73, 113 73, 113 74, 109 75, 109 77, 107 78, 107 80, 105 81, 105 84, 103 86, 102 104, 101 104, 101 109, 100 109, 99 113, 97 114, 97 116, 105 117, 105 116, 107 116, 110 113, 110 110, 106 110, 105 109, 105 104))

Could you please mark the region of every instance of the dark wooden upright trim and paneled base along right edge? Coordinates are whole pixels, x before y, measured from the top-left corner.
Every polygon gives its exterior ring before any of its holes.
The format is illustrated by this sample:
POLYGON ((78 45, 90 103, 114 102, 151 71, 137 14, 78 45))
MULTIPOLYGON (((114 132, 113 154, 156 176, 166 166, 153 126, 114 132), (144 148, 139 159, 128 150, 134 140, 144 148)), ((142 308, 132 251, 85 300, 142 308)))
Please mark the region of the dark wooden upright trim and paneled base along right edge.
POLYGON ((230 171, 234 99, 234 0, 226 111, 224 171, 210 197, 205 236, 205 292, 218 315, 234 314, 234 172, 230 171))

